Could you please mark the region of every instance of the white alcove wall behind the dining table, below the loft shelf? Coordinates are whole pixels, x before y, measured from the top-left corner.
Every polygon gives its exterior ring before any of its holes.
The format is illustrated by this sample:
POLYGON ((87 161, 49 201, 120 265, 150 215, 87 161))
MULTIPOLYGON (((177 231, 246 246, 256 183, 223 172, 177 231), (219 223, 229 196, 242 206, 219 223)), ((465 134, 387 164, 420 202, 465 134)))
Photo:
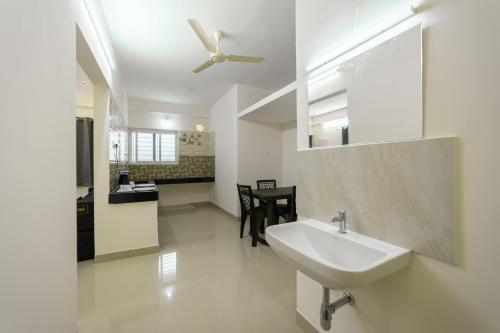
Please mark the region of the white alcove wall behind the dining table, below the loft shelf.
POLYGON ((257 179, 281 184, 281 129, 238 119, 238 183, 256 186, 257 179))

